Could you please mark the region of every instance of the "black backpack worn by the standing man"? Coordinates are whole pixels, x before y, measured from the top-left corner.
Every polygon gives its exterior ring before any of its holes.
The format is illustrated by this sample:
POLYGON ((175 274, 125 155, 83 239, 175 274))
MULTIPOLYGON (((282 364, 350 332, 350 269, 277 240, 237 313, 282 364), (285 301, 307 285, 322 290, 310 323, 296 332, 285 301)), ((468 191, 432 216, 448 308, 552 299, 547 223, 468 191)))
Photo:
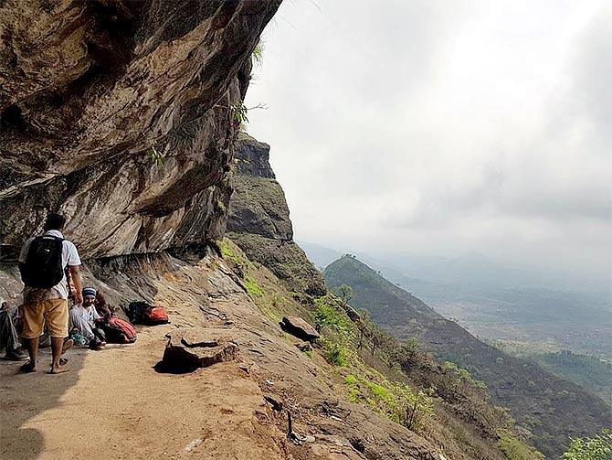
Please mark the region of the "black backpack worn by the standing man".
POLYGON ((19 264, 21 280, 27 287, 51 289, 62 280, 63 246, 64 240, 52 235, 39 236, 30 242, 26 262, 19 264))

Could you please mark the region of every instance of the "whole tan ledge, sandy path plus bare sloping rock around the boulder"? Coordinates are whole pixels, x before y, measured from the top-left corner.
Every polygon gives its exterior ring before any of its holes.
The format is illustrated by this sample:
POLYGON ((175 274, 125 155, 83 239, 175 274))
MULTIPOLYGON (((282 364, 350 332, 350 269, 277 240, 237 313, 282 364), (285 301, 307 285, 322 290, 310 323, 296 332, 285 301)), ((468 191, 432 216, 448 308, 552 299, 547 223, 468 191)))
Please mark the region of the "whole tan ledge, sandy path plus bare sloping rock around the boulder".
POLYGON ((99 266, 85 278, 112 305, 150 296, 172 324, 142 327, 132 345, 71 349, 70 371, 58 376, 45 373, 48 350, 36 374, 0 361, 0 460, 438 460, 417 434, 343 401, 324 359, 296 348, 217 259, 159 254, 99 266), (177 327, 229 336, 239 358, 158 373, 164 337, 177 327), (265 396, 281 401, 283 412, 273 412, 265 396), (285 410, 311 442, 288 442, 285 410))

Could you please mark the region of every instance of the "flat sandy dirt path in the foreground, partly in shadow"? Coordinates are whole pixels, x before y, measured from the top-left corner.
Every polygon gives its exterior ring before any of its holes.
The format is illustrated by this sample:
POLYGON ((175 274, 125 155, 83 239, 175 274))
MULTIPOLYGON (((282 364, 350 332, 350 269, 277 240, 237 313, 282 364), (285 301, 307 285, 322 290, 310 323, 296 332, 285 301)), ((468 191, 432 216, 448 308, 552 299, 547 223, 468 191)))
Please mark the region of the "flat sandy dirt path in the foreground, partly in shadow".
POLYGON ((70 372, 58 376, 42 367, 47 353, 37 374, 2 361, 0 458, 286 458, 259 386, 237 362, 153 369, 172 328, 145 328, 131 346, 70 350, 70 372))

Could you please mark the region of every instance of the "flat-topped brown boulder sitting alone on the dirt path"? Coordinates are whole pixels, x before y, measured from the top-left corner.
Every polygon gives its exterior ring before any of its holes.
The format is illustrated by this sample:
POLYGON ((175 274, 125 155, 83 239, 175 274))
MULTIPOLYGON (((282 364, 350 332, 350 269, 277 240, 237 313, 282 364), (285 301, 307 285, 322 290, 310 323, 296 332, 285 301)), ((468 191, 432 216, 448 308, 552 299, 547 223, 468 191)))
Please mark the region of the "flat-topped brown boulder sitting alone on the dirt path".
POLYGON ((185 373, 237 358, 238 346, 230 337, 216 337, 206 330, 179 329, 168 334, 159 369, 185 373))

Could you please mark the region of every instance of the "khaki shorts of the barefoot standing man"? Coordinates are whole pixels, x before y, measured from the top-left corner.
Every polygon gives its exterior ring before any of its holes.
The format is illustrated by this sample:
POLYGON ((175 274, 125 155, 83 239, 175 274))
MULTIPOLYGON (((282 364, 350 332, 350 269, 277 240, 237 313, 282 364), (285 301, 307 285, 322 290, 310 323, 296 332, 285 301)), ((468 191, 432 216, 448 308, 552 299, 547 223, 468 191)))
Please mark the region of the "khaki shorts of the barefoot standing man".
POLYGON ((68 337, 68 300, 41 300, 24 305, 22 337, 40 337, 45 324, 50 337, 68 337))

